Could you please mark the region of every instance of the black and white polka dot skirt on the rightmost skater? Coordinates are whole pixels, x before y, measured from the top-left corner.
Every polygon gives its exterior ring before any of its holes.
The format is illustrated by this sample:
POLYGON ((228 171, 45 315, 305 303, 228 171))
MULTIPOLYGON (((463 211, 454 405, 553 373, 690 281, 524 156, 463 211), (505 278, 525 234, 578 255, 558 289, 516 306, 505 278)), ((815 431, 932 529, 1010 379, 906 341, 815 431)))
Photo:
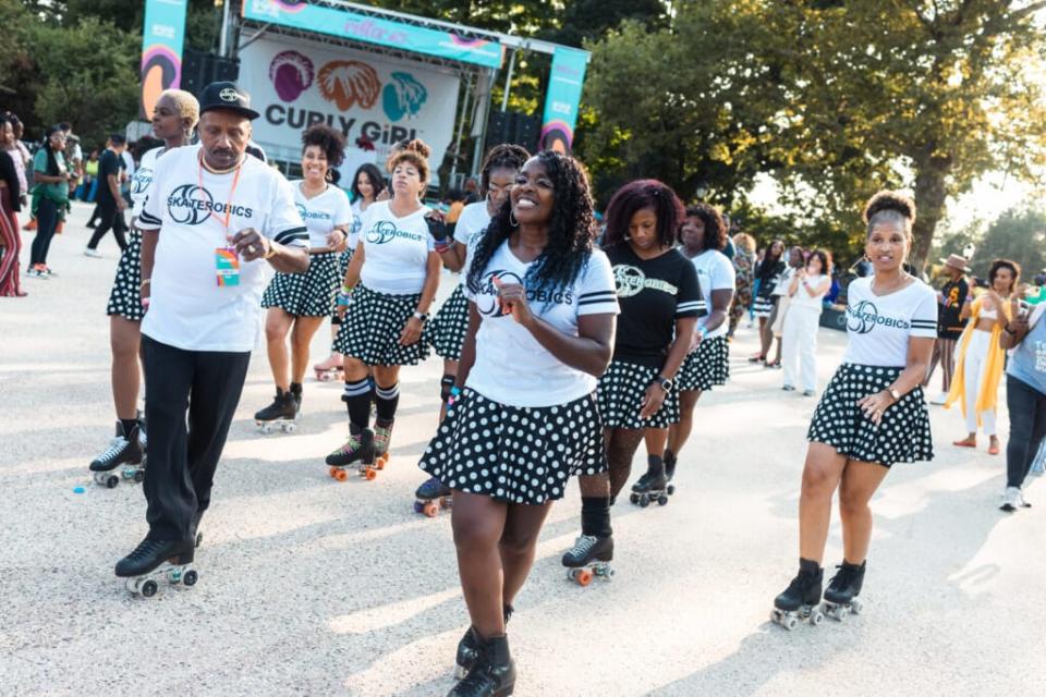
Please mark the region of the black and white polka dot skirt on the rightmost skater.
POLYGON ((881 392, 902 370, 850 363, 839 366, 817 403, 806 439, 831 445, 851 460, 887 467, 896 462, 933 460, 934 441, 922 388, 886 409, 878 426, 858 406, 858 400, 881 392))

